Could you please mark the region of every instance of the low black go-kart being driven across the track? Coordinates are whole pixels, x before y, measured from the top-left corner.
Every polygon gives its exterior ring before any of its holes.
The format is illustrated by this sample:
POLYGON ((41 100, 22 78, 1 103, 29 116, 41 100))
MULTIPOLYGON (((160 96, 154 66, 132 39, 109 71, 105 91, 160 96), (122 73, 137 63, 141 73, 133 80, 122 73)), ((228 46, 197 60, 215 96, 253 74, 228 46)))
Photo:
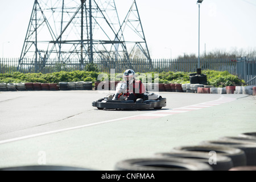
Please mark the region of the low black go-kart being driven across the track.
POLYGON ((119 82, 115 89, 115 94, 110 94, 108 97, 100 98, 92 102, 92 106, 102 109, 129 109, 129 110, 143 110, 143 109, 162 109, 166 106, 166 98, 158 96, 155 93, 144 93, 143 98, 134 100, 126 100, 123 93, 126 92, 126 83, 119 82), (119 97, 118 97, 119 96, 119 97))

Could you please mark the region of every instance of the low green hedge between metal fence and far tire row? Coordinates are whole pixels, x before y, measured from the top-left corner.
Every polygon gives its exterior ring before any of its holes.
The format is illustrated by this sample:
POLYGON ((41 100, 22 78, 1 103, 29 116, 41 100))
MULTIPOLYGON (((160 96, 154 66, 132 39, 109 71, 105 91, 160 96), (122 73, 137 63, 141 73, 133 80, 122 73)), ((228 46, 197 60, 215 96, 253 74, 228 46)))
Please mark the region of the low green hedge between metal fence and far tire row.
MULTIPOLYGON (((152 82, 155 80, 155 73, 149 72, 152 76, 152 82)), ((237 76, 230 74, 228 71, 202 71, 204 75, 207 75, 208 85, 214 87, 225 86, 243 86, 246 85, 245 81, 239 79, 237 76)), ((159 83, 169 84, 186 84, 189 83, 188 72, 161 72, 158 73, 156 81, 159 83)), ((72 81, 97 81, 97 77, 100 72, 94 71, 73 71, 73 72, 55 72, 55 73, 20 73, 15 72, 13 74, 0 74, 0 82, 6 83, 18 83, 18 82, 41 82, 41 83, 58 83, 58 82, 72 82, 72 81)), ((143 81, 150 78, 148 73, 137 73, 140 79, 143 81)), ((110 74, 108 74, 110 78, 110 74)), ((122 77, 122 73, 116 73, 115 76, 122 77)))

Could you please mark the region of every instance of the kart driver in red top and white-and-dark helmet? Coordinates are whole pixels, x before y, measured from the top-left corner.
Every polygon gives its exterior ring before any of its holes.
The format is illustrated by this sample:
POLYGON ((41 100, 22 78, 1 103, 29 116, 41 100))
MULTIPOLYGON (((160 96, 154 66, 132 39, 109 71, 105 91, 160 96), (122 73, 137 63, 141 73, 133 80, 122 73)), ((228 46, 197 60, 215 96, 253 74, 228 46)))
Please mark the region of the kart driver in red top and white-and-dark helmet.
MULTIPOLYGON (((135 72, 133 69, 127 69, 123 73, 123 79, 127 83, 126 92, 122 93, 123 96, 126 97, 126 101, 133 100, 135 102, 138 98, 144 98, 146 89, 140 80, 135 80, 135 72)), ((120 96, 120 94, 118 96, 115 95, 114 100, 118 100, 120 96)))

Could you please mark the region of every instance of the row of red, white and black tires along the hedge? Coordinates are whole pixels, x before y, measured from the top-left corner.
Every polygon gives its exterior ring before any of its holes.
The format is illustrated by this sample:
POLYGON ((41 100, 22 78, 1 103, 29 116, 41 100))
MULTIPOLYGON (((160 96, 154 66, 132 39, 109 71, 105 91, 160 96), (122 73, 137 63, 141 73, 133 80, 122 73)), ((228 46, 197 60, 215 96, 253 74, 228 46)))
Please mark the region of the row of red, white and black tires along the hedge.
MULTIPOLYGON (((197 76, 198 77, 198 76, 197 76)), ((114 84, 110 81, 104 83, 108 84, 109 90, 115 90, 114 84)), ((94 82, 94 89, 98 89, 100 81, 94 82)), ((205 94, 248 94, 256 96, 256 85, 249 86, 226 86, 224 88, 214 88, 210 85, 204 84, 144 84, 148 92, 155 91, 158 86, 159 92, 186 92, 186 93, 205 93, 205 94)), ((104 89, 104 86, 102 86, 104 89)), ((0 92, 3 91, 24 91, 24 90, 93 90, 92 81, 77 81, 77 82, 59 82, 59 84, 47 84, 40 82, 26 82, 26 83, 0 83, 0 92)))

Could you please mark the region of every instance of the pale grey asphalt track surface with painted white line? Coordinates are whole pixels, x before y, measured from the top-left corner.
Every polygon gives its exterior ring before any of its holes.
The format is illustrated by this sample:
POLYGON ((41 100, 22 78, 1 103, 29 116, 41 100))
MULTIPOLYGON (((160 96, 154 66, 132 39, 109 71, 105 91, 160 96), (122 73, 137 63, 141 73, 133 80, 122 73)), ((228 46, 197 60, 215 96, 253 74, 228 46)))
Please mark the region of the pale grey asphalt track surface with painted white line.
POLYGON ((96 90, 0 92, 0 168, 114 170, 120 160, 255 132, 256 97, 160 92, 162 110, 98 110, 96 90), (41 161, 42 162, 42 161, 41 161))

